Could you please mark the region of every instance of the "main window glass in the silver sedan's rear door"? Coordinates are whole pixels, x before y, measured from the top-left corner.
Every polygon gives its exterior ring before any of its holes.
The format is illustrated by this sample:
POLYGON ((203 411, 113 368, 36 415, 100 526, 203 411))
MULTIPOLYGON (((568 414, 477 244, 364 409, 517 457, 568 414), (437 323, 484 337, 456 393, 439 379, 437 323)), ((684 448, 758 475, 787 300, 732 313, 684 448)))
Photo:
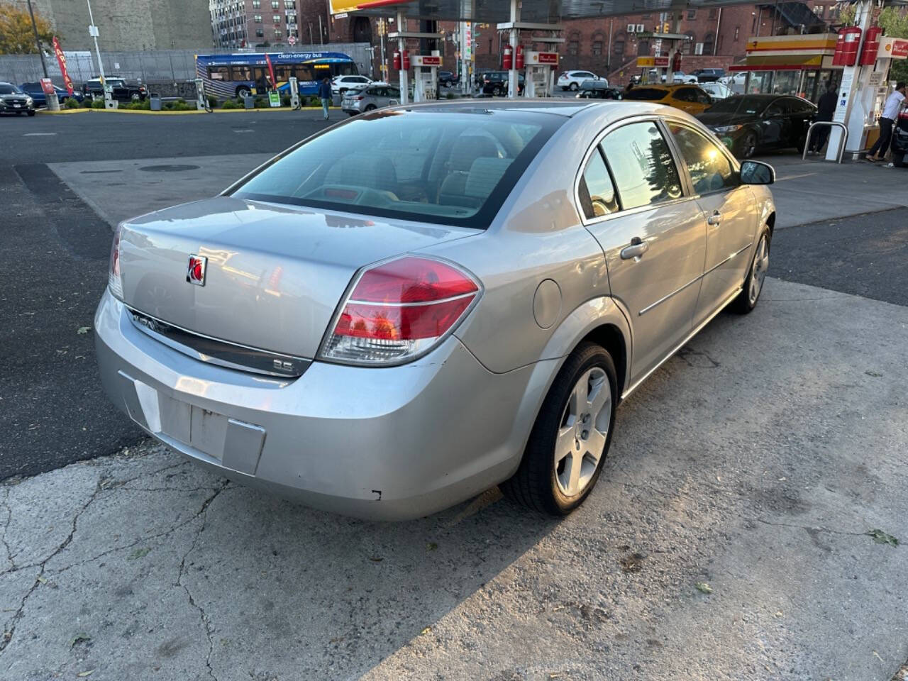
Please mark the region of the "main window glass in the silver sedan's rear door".
POLYGON ((602 151, 625 210, 681 197, 675 161, 656 123, 631 123, 608 133, 602 151))

